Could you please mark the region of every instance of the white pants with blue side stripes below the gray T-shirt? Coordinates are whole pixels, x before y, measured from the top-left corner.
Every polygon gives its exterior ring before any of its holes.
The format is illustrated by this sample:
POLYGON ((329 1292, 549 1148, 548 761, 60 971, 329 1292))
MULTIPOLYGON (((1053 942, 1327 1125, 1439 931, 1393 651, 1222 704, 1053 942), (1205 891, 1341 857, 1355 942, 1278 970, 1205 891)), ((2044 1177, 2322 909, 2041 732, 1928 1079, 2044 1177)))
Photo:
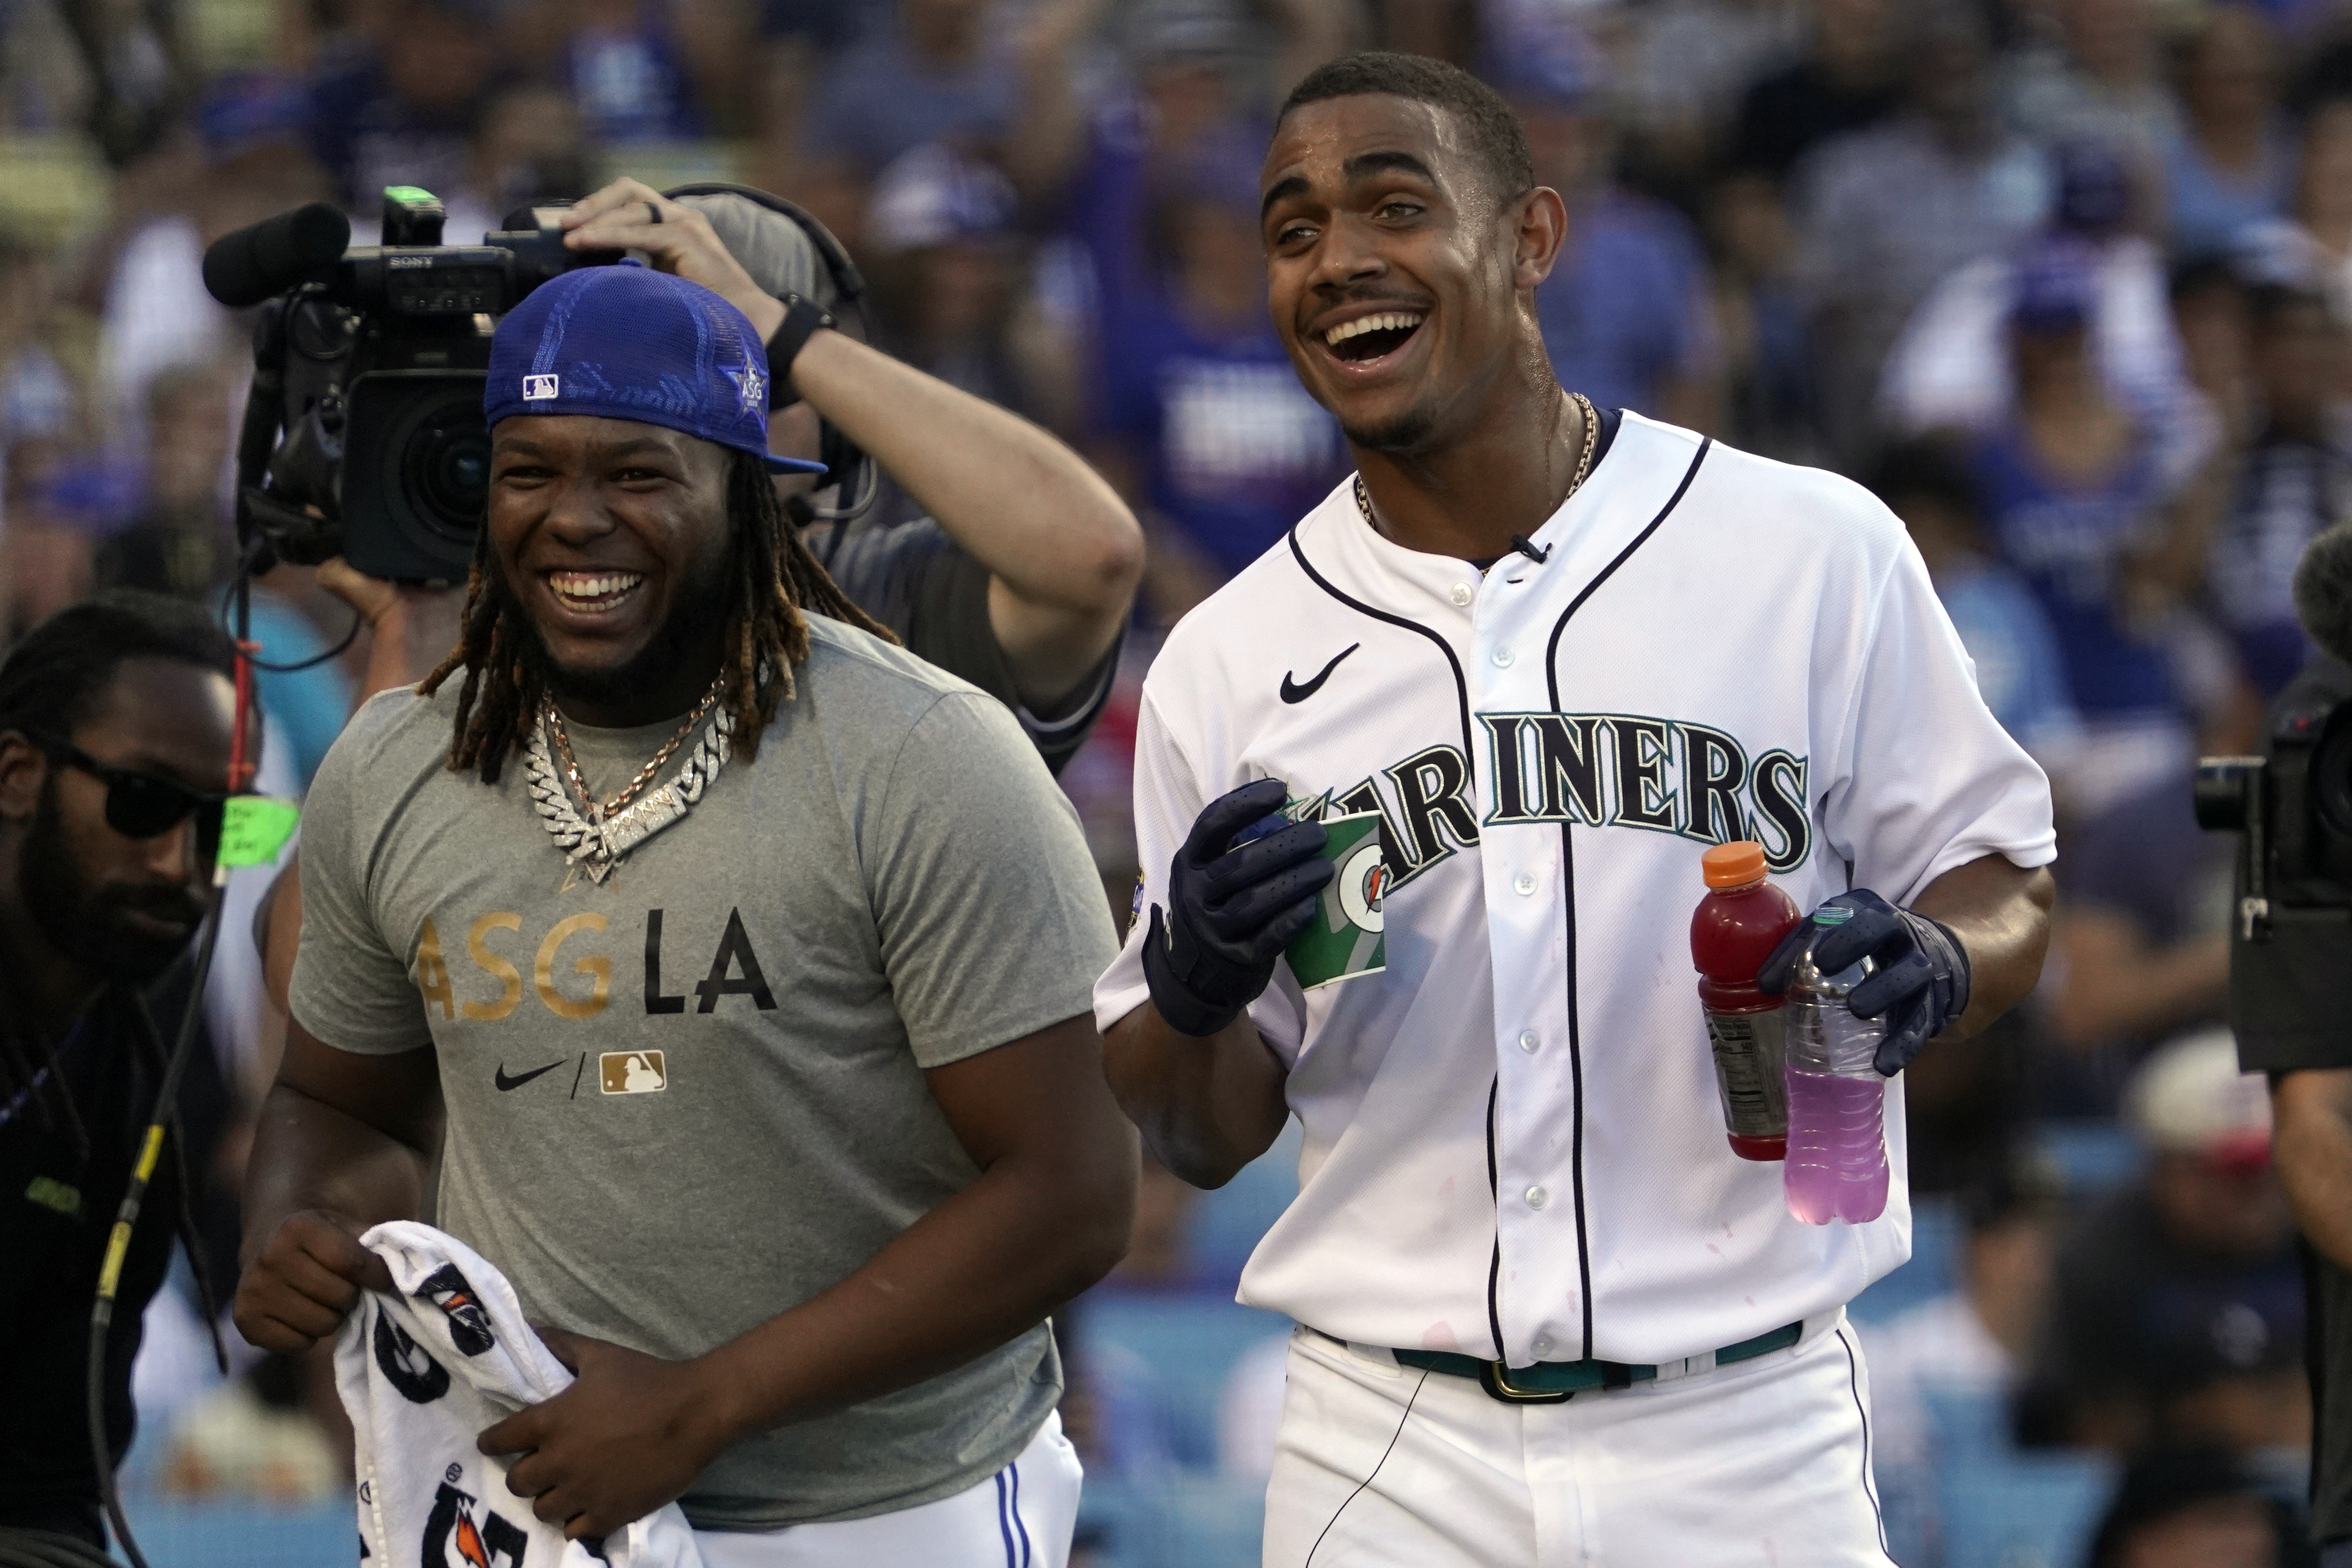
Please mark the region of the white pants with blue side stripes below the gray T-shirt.
POLYGON ((696 1530, 703 1568, 1068 1568, 1077 1450, 1047 1415, 1011 1465, 953 1497, 783 1530, 696 1530))

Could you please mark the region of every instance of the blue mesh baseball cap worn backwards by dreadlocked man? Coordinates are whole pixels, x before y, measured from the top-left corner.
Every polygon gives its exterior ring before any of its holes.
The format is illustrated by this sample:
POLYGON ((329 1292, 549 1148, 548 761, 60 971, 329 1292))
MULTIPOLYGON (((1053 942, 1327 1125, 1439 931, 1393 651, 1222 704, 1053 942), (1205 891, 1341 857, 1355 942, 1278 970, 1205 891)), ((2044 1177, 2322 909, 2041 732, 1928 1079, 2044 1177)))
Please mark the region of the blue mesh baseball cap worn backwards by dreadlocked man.
POLYGON ((532 289, 489 341, 482 418, 597 414, 826 473, 767 449, 767 346, 724 299, 635 256, 532 289))

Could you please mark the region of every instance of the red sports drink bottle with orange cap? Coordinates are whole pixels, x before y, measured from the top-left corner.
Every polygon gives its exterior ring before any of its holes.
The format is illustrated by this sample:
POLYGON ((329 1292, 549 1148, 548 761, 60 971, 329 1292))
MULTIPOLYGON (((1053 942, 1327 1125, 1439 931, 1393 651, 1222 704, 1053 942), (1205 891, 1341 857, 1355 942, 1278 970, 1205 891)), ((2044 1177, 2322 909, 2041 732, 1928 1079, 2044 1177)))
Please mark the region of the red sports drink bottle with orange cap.
POLYGON ((1691 912, 1691 966, 1715 1046, 1724 1133, 1740 1159, 1788 1157, 1788 1084, 1780 1077, 1780 997, 1757 990, 1757 969, 1799 919, 1788 893, 1764 882, 1764 846, 1717 844, 1698 858, 1708 896, 1691 912))

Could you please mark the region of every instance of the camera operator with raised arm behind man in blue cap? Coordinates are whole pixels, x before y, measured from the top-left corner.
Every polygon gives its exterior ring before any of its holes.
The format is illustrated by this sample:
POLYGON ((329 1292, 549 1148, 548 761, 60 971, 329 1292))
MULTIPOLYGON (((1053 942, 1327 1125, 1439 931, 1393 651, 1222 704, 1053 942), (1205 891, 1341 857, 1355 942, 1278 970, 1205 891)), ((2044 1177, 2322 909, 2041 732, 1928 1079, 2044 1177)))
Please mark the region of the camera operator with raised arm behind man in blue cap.
MULTIPOLYGON (((659 270, 743 310, 776 348, 788 317, 779 294, 800 284, 814 299, 833 284, 788 219, 743 197, 720 200, 734 207, 729 230, 748 240, 746 261, 762 273, 757 280, 706 216, 710 197, 670 200, 633 179, 572 207, 564 244, 642 252, 659 270), (757 228, 746 230, 743 214, 757 228)), ((774 362, 774 376, 790 390, 779 386, 771 397, 771 449, 818 458, 818 421, 826 421, 929 512, 891 529, 842 534, 847 524, 816 522, 802 503, 793 512, 807 520, 809 548, 842 592, 908 651, 1004 701, 1047 766, 1061 771, 1110 696, 1120 635, 1143 578, 1143 531, 1110 484, 1030 421, 858 343, 847 313, 840 329, 809 331, 809 320, 793 322, 800 350, 774 362)), ((809 484, 800 475, 779 480, 786 489, 809 484)), ((320 581, 376 628, 372 689, 419 679, 447 651, 447 642, 433 642, 452 623, 430 604, 454 592, 395 595, 350 571, 320 581)))

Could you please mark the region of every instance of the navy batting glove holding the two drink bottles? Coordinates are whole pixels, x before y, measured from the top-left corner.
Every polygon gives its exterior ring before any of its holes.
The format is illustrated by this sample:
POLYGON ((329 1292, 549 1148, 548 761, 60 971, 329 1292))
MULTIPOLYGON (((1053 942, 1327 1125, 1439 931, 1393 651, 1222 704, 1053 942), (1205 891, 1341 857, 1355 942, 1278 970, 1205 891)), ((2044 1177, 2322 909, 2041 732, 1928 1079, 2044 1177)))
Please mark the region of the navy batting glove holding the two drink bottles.
MULTIPOLYGON (((1799 922, 1780 938, 1757 990, 1778 997, 1797 978, 1797 959, 1813 943, 1813 964, 1830 976, 1860 959, 1877 971, 1853 987, 1846 1006, 1856 1018, 1886 1018, 1886 1039, 1875 1058, 1884 1077, 1912 1065, 1926 1041, 1969 1011, 1969 952, 1940 922, 1917 910, 1898 910, 1870 889, 1839 893, 1823 910, 1851 910, 1844 924, 1799 922)), ((1818 914, 1820 910, 1816 910, 1818 914)))

